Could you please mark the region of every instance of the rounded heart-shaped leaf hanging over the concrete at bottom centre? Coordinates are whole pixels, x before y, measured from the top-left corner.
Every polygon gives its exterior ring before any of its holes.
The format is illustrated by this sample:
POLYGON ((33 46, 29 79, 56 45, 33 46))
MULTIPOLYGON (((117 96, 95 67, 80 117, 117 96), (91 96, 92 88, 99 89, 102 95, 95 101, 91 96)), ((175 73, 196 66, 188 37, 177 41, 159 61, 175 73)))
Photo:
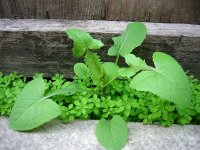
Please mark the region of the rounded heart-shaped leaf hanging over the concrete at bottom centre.
POLYGON ((96 137, 107 150, 121 150, 128 140, 127 123, 119 115, 111 121, 102 118, 96 126, 96 137))

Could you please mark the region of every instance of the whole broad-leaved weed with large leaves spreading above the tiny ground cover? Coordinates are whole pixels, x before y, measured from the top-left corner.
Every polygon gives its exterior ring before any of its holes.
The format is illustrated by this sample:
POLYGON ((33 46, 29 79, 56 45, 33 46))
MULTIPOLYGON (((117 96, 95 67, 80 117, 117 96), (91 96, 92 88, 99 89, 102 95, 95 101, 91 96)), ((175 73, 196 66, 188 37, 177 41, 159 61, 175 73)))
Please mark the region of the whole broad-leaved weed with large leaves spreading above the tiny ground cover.
MULTIPOLYGON (((84 63, 74 65, 76 76, 87 81, 92 80, 93 86, 88 92, 104 96, 110 89, 110 83, 117 78, 127 79, 130 87, 138 91, 148 91, 161 98, 177 104, 179 109, 187 107, 191 101, 191 90, 187 76, 181 66, 169 55, 162 52, 153 54, 155 67, 131 54, 132 50, 141 45, 146 38, 147 29, 143 23, 130 23, 126 31, 113 37, 114 45, 108 50, 109 56, 115 56, 115 62, 102 63, 97 50, 103 47, 100 40, 80 29, 66 30, 74 42, 73 55, 84 57, 84 63), (118 65, 119 57, 123 57, 129 67, 118 65), (93 88, 98 89, 94 91, 93 88)), ((74 85, 44 96, 44 80, 37 77, 28 83, 18 96, 10 116, 10 127, 24 131, 36 128, 60 115, 58 105, 50 97, 58 94, 72 95, 80 92, 74 85)), ((98 141, 106 149, 122 149, 128 139, 128 127, 119 116, 110 121, 101 119, 96 127, 98 141)))

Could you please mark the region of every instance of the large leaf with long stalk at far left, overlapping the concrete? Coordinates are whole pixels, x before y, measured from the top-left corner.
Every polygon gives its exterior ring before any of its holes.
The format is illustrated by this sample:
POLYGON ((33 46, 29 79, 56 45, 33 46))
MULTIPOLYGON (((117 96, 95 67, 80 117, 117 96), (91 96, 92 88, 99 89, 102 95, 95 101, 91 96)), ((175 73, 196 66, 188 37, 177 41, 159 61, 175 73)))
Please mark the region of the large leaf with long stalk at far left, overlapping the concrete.
POLYGON ((42 77, 29 82, 13 106, 9 126, 13 130, 25 131, 36 128, 61 114, 58 104, 49 99, 54 95, 71 95, 71 89, 62 89, 44 97, 45 84, 42 77))

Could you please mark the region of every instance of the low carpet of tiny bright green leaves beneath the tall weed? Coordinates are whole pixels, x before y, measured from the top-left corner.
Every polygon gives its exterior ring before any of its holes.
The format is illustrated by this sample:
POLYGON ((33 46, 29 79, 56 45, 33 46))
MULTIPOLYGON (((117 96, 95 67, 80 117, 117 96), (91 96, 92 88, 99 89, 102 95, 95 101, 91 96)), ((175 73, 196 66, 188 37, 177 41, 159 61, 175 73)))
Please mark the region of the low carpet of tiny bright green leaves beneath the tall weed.
MULTIPOLYGON (((42 76, 42 74, 37 74, 33 78, 42 76)), ((150 92, 131 89, 129 81, 123 79, 113 81, 110 84, 112 90, 107 90, 102 96, 101 93, 94 93, 98 90, 96 87, 92 88, 92 92, 86 92, 91 91, 92 82, 76 78, 73 82, 78 84, 84 92, 68 97, 57 95, 52 99, 59 105, 61 114, 58 118, 64 123, 76 119, 111 119, 114 115, 120 115, 126 121, 144 124, 159 123, 162 126, 200 124, 200 83, 193 76, 188 78, 192 100, 184 110, 150 92)), ((0 73, 0 114, 2 116, 10 116, 17 95, 29 80, 17 73, 9 75, 0 73)), ((45 95, 66 88, 71 83, 59 74, 44 81, 45 95)))

